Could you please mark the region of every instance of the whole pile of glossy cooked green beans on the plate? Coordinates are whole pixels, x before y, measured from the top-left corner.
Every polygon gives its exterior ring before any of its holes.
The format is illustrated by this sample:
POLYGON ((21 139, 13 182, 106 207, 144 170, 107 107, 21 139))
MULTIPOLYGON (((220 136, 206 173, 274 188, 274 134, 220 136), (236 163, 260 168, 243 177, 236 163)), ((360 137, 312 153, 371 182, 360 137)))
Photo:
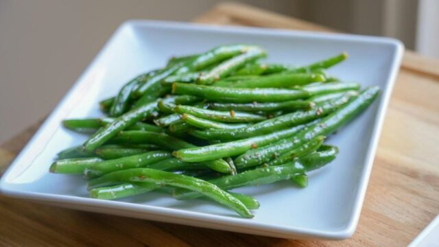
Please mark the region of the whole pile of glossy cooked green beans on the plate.
POLYGON ((324 140, 379 94, 327 77, 345 52, 301 66, 261 62, 267 55, 224 45, 135 76, 99 102, 104 117, 62 122, 90 137, 59 152, 49 171, 84 176, 91 198, 156 191, 253 217, 257 199, 231 190, 281 180, 307 187, 309 172, 337 156, 324 140))

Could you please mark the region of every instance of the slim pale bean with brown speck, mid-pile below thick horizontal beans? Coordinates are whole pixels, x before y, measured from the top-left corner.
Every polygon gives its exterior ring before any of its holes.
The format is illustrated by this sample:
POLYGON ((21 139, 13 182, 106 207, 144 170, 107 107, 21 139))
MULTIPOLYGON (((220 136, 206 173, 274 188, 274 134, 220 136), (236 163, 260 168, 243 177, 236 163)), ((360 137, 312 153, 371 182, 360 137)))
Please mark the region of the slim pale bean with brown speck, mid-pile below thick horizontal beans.
POLYGON ((186 114, 194 115, 195 117, 201 117, 204 119, 211 119, 213 121, 222 121, 227 123, 248 123, 254 121, 261 121, 265 119, 265 117, 261 115, 235 112, 234 110, 230 110, 230 111, 207 110, 193 106, 181 106, 181 105, 174 107, 174 112, 180 114, 186 113, 186 114))

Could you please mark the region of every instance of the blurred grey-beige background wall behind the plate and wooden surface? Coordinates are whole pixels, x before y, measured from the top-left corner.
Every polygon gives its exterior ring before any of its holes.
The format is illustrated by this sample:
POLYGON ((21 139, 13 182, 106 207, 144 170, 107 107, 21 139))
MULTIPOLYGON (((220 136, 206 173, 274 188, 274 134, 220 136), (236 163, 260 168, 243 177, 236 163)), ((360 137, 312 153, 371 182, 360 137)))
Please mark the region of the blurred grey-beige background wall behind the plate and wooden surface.
MULTIPOLYGON (((418 21, 420 2, 430 18, 439 12, 429 8, 439 8, 436 0, 238 1, 342 32, 392 36, 408 49, 416 47, 416 32, 427 43, 421 47, 431 47, 430 19, 418 21), (422 21, 430 27, 417 28, 422 21)), ((50 113, 123 21, 190 21, 220 2, 0 0, 0 141, 50 113)))

